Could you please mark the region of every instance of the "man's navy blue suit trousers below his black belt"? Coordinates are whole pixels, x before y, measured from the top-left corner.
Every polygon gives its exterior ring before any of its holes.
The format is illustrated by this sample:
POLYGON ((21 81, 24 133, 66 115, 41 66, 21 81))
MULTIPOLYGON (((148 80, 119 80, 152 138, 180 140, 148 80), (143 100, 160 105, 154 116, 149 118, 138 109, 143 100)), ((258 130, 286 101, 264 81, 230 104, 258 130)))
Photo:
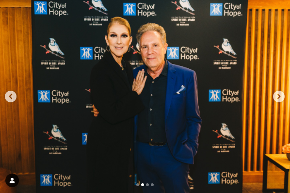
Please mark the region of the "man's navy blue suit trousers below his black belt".
POLYGON ((167 144, 136 143, 137 175, 144 193, 190 193, 188 163, 177 161, 167 144))

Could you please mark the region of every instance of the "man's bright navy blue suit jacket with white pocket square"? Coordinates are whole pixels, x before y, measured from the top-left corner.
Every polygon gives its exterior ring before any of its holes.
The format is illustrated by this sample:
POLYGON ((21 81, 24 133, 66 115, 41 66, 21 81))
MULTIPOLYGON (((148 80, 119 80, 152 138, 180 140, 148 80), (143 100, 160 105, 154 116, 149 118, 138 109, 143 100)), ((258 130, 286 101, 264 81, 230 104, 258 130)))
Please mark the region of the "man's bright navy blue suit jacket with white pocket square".
MULTIPOLYGON (((134 78, 136 78, 138 71, 142 69, 145 70, 145 65, 133 70, 134 78)), ((197 99, 197 79, 193 70, 168 62, 164 113, 166 138, 172 155, 178 161, 193 164, 193 157, 197 153, 198 135, 201 126, 197 99), (177 94, 182 85, 185 86, 185 89, 177 94)), ((135 116, 134 123, 135 143, 138 129, 137 120, 138 115, 135 116)), ((136 148, 134 148, 134 151, 136 163, 136 148)))

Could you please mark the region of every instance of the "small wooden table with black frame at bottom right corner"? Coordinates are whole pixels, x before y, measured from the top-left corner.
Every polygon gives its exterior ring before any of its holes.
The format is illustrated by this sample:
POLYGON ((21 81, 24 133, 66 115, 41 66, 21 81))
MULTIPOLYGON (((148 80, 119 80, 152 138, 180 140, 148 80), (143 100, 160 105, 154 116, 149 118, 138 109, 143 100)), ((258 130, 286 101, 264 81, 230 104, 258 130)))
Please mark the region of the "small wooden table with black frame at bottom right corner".
POLYGON ((263 162, 263 193, 288 193, 290 161, 286 154, 265 154, 263 162))

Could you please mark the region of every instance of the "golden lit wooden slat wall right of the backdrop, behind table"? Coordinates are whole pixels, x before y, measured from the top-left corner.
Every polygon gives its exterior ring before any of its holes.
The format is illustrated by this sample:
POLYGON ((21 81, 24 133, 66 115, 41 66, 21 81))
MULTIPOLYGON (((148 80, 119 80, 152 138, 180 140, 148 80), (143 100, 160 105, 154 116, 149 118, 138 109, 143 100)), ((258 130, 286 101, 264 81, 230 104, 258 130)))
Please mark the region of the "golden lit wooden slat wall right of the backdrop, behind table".
POLYGON ((248 176, 262 174, 264 154, 282 153, 290 143, 290 9, 257 7, 262 6, 251 8, 249 1, 245 42, 243 169, 248 176), (278 90, 285 94, 280 103, 273 99, 278 90))

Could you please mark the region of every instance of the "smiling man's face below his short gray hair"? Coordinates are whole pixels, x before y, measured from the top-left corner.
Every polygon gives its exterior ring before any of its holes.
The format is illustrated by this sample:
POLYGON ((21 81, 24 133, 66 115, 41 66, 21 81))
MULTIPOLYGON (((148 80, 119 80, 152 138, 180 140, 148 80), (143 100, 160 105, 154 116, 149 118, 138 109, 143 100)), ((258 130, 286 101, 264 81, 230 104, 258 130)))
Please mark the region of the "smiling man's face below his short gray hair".
POLYGON ((167 43, 162 44, 161 35, 156 31, 143 33, 140 39, 141 55, 148 68, 158 68, 164 63, 167 43))

